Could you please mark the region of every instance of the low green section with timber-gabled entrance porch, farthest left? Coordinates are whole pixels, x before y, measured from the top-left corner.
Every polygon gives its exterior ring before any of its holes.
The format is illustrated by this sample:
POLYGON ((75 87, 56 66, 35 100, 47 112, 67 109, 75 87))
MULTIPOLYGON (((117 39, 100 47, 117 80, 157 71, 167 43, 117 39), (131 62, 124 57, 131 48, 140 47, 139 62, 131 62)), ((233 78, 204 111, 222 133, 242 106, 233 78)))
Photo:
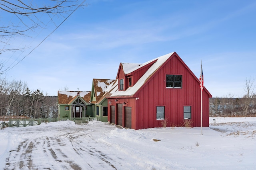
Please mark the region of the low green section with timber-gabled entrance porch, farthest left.
POLYGON ((59 117, 92 116, 90 97, 91 92, 58 91, 59 117))

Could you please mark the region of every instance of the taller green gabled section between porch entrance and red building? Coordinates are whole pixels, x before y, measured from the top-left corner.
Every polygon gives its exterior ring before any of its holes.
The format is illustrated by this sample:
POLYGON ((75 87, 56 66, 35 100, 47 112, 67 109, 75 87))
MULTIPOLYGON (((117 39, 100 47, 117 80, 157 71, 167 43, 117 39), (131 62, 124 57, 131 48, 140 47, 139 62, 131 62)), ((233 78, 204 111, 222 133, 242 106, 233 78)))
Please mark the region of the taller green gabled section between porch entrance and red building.
POLYGON ((103 122, 108 121, 108 100, 106 96, 117 86, 116 80, 93 79, 90 104, 92 104, 92 115, 100 117, 103 122))

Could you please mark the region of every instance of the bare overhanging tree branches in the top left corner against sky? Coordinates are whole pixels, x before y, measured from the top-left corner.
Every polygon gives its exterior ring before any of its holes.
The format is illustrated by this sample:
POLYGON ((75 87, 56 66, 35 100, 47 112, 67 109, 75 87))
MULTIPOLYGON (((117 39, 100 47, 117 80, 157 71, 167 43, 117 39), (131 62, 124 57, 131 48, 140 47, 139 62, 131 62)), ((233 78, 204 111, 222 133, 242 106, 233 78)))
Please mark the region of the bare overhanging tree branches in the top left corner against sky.
MULTIPOLYGON (((6 25, 0 25, 0 42, 8 44, 11 38, 15 36, 28 36, 28 31, 38 27, 45 27, 49 21, 53 23, 59 18, 66 18, 74 12, 79 6, 83 5, 85 0, 0 0, 0 9, 4 12, 5 18, 9 14, 13 18, 6 25), (48 18, 48 20, 45 20, 48 18)), ((1 49, 2 51, 13 51, 17 49, 1 49)))

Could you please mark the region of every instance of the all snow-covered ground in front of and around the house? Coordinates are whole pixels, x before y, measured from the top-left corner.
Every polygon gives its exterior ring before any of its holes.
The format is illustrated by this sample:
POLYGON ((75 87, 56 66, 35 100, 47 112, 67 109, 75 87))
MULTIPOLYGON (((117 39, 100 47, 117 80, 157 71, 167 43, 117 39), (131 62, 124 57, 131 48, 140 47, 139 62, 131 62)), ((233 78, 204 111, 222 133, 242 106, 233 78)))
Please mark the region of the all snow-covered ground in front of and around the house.
POLYGON ((256 117, 209 120, 203 135, 200 127, 135 131, 98 121, 5 128, 0 169, 255 170, 256 117))

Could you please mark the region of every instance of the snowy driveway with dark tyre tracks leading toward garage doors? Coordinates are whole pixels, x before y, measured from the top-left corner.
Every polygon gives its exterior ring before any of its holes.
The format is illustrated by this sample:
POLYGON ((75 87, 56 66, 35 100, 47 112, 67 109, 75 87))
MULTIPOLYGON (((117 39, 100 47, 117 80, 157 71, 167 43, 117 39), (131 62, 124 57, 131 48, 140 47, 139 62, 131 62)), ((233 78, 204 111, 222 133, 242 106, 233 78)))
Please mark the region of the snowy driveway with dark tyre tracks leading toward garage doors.
POLYGON ((61 125, 11 129, 15 132, 8 132, 14 133, 9 134, 9 142, 20 143, 17 149, 9 151, 4 169, 116 169, 113 163, 125 162, 112 160, 102 152, 109 146, 97 142, 114 126, 88 128, 86 124, 74 125, 69 121, 61 125))

